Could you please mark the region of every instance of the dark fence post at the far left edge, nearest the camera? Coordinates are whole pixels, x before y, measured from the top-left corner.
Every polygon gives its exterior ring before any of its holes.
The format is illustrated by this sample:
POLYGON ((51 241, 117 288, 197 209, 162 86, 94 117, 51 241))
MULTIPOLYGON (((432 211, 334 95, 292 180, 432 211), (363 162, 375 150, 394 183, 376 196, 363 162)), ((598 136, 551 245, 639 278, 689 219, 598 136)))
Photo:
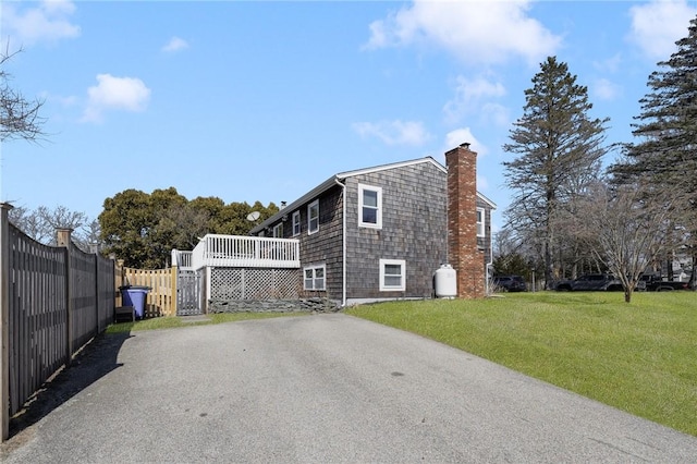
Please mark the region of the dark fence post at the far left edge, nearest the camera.
POLYGON ((10 210, 0 203, 0 441, 10 436, 10 210))

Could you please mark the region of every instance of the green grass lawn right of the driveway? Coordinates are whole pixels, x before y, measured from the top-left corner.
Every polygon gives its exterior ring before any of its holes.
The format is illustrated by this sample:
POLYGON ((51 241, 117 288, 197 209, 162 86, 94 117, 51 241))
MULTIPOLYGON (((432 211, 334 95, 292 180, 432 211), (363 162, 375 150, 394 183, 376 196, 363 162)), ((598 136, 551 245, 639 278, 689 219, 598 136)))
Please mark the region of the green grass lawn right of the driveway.
POLYGON ((521 293, 346 309, 697 436, 697 293, 521 293))

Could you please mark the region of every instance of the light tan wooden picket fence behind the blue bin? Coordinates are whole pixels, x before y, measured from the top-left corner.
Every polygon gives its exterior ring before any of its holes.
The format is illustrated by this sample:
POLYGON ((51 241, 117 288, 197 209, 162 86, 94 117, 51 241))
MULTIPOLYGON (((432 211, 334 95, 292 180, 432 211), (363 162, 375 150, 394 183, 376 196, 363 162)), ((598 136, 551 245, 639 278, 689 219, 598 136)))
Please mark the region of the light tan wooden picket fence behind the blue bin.
MULTIPOLYGON (((119 260, 115 276, 117 286, 149 286, 145 302, 144 317, 176 316, 176 267, 169 269, 124 268, 119 260)), ((117 305, 122 305, 121 295, 117 305)))

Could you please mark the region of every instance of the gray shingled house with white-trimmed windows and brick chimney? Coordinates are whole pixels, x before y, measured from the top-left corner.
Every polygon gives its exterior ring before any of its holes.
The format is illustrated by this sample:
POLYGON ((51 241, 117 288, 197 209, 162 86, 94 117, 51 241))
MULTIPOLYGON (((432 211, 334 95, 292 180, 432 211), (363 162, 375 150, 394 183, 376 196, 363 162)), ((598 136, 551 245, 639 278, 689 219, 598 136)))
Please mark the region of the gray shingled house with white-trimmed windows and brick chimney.
POLYGON ((457 296, 482 296, 496 205, 476 191, 468 144, 445 159, 449 168, 425 157, 338 173, 250 235, 299 241, 303 296, 342 306, 431 297, 445 262, 457 296))

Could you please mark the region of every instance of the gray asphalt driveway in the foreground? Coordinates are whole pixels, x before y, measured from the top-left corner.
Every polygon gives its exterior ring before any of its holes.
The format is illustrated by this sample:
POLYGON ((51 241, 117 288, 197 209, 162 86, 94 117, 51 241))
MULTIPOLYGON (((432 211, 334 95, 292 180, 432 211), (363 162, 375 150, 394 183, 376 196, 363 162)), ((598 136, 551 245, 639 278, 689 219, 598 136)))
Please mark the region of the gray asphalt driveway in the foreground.
POLYGON ((134 332, 109 356, 69 369, 97 375, 5 444, 3 461, 687 463, 697 456, 695 437, 342 314, 134 332))

